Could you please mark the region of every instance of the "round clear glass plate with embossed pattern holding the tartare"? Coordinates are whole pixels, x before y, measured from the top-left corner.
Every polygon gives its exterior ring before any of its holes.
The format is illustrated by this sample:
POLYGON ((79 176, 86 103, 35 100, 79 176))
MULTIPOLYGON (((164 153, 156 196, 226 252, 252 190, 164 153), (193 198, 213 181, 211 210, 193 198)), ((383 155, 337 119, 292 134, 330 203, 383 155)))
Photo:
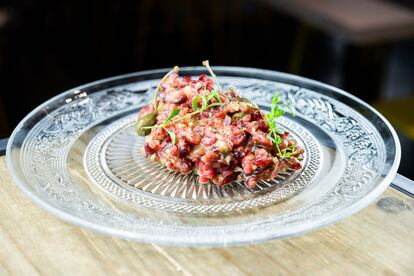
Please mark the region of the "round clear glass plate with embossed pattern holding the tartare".
MULTIPOLYGON (((303 169, 254 189, 201 185, 145 159, 134 133, 167 69, 105 79, 64 92, 14 130, 7 162, 16 184, 58 217, 110 235, 169 245, 219 246, 302 234, 368 205, 400 161, 394 129, 337 88, 267 70, 215 67, 263 110, 279 91, 296 107, 280 125, 305 148, 303 169)), ((181 69, 197 76, 202 67, 181 69)))

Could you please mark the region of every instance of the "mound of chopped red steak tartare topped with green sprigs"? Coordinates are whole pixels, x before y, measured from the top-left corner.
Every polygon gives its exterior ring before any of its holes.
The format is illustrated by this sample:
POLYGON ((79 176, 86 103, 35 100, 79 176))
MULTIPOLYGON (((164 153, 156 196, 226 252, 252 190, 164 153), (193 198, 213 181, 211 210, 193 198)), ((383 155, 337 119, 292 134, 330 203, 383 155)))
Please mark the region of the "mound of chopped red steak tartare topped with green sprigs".
POLYGON ((253 188, 286 169, 299 170, 303 149, 274 121, 284 113, 278 99, 265 114, 235 89, 222 91, 210 72, 211 78, 180 77, 176 67, 160 82, 153 104, 138 115, 145 155, 216 185, 239 180, 253 188))

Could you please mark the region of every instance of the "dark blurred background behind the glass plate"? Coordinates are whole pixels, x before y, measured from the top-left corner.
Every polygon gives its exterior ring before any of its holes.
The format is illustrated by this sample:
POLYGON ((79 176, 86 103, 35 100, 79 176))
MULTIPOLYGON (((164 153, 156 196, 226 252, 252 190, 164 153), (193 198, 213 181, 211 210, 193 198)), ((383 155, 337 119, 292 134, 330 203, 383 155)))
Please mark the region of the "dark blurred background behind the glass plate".
POLYGON ((414 178, 412 0, 0 0, 0 138, 72 87, 204 59, 298 74, 373 104, 414 178))

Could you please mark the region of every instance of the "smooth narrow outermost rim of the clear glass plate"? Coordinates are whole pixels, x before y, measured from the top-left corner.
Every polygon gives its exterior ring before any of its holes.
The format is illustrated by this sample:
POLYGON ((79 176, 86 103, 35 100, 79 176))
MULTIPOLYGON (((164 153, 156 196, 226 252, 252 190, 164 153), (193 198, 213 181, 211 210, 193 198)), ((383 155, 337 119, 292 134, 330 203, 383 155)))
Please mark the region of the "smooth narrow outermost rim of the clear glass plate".
MULTIPOLYGON (((181 67, 182 70, 200 70, 203 69, 204 67, 202 66, 188 66, 188 67, 181 67)), ((297 81, 298 83, 301 84, 307 84, 307 85, 313 85, 315 87, 319 87, 319 88, 324 88, 327 89, 329 91, 332 91, 334 93, 338 93, 341 94, 343 96, 345 96, 346 98, 349 98, 355 102, 357 102, 358 104, 362 105, 363 107, 367 108, 369 111, 371 111, 374 115, 378 116, 378 118, 385 124, 385 126, 387 127, 387 129, 390 131, 391 135, 392 135, 392 140, 395 143, 395 155, 392 161, 392 165, 389 168, 389 172, 388 174, 381 180, 380 184, 378 184, 376 187, 374 187, 365 197, 363 197, 360 200, 357 200, 355 202, 353 202, 352 204, 348 205, 346 208, 340 209, 338 211, 335 211, 334 213, 331 213, 330 216, 325 217, 325 218, 321 218, 318 217, 315 220, 312 221, 312 223, 310 224, 306 224, 306 225, 296 225, 297 229, 295 231, 295 234, 293 234, 294 236, 297 235, 301 235, 304 233, 308 233, 311 231, 315 231, 318 230, 324 226, 333 224, 345 217, 351 216, 355 213, 357 213, 358 211, 360 211, 361 209, 363 209, 364 207, 366 207, 368 204, 370 204, 373 200, 375 200, 377 197, 379 197, 384 191, 385 189, 388 187, 388 185, 391 183, 392 179, 394 179, 395 175, 397 174, 397 170, 400 164, 400 160, 401 160, 401 145, 399 142, 399 138, 397 136, 397 133, 395 131, 395 129, 392 127, 392 125, 390 124, 390 122, 380 113, 378 112, 375 108, 373 108, 371 105, 369 105, 368 103, 366 103, 365 101, 359 99, 358 97, 340 89, 337 87, 334 87, 332 85, 320 82, 320 81, 316 81, 316 80, 312 80, 309 78, 305 78, 305 77, 301 77, 301 76, 297 76, 297 75, 293 75, 293 74, 289 74, 289 73, 284 73, 284 72, 279 72, 279 71, 273 71, 273 70, 267 70, 267 69, 258 69, 258 68, 252 68, 252 67, 233 67, 233 66, 213 66, 213 69, 215 70, 222 70, 222 71, 228 71, 228 72, 232 72, 232 73, 250 73, 250 74, 261 74, 261 75, 269 75, 272 77, 280 77, 280 78, 284 78, 284 79, 288 79, 288 80, 294 80, 297 81)), ((100 79, 100 80, 96 80, 93 82, 89 82, 74 88, 71 88, 69 90, 66 90, 64 92, 61 92, 59 94, 57 94, 56 96, 50 98, 49 100, 45 101, 44 103, 40 104, 39 106, 37 106, 35 109, 33 109, 29 114, 27 114, 20 122, 19 124, 15 127, 15 129, 13 130, 8 144, 7 144, 7 149, 6 149, 6 162, 7 162, 7 167, 9 170, 9 174, 11 176, 12 181, 31 199, 33 200, 38 206, 42 207, 44 210, 48 211, 49 213, 57 216, 58 218, 61 218, 62 220, 66 221, 66 222, 70 222, 72 224, 75 225, 79 225, 81 227, 86 227, 101 233, 105 233, 105 234, 109 234, 112 236, 116 236, 119 238, 123 238, 123 239, 132 239, 132 240, 136 240, 139 242, 146 242, 148 243, 148 240, 146 240, 148 238, 148 236, 146 234, 140 234, 137 232, 132 232, 132 231, 127 231, 127 230, 120 230, 120 229, 114 229, 112 227, 108 227, 108 226, 103 226, 103 225, 98 225, 95 224, 93 222, 90 222, 86 219, 82 219, 79 218, 75 215, 72 215, 70 213, 67 213, 65 211, 62 211, 61 209, 54 207, 53 205, 49 204, 48 202, 42 200, 42 198, 38 197, 36 195, 36 193, 30 191, 27 187, 26 184, 24 183, 23 180, 21 180, 15 171, 15 168, 13 167, 13 160, 11 157, 11 151, 12 151, 12 146, 13 146, 13 142, 15 141, 16 135, 19 132, 20 129, 22 129, 22 127, 24 126, 24 123, 26 121, 28 121, 34 114, 36 114, 39 110, 41 110, 42 108, 46 107, 48 104, 64 98, 65 96, 71 95, 71 93, 73 93, 76 90, 81 90, 85 87, 90 87, 93 85, 97 85, 100 83, 105 83, 105 82, 109 82, 109 81, 113 81, 113 80, 117 80, 117 79, 123 79, 123 78, 128 78, 128 77, 137 77, 137 76, 141 76, 141 75, 146 75, 146 74, 157 74, 157 73, 164 73, 164 72, 168 72, 170 70, 170 68, 162 68, 162 69, 153 69, 153 70, 145 70, 145 71, 138 71, 138 72, 133 72, 133 73, 128 73, 128 74, 122 74, 122 75, 117 75, 117 76, 113 76, 113 77, 109 77, 109 78, 104 78, 104 79, 100 79)), ((283 239, 286 237, 290 237, 292 236, 291 233, 285 233, 285 234, 272 234, 273 232, 269 232, 267 235, 263 235, 259 238, 255 238, 253 241, 250 239, 251 237, 246 237, 245 239, 243 239, 243 236, 238 236, 235 235, 235 239, 232 238, 229 241, 227 241, 225 243, 225 245, 243 245, 243 244, 251 244, 251 243, 257 243, 257 242, 264 242, 264 241, 268 241, 268 240, 273 240, 275 238, 277 239, 283 239)), ((214 240, 209 240, 206 243, 203 242, 194 242, 194 241, 188 241, 187 239, 183 238, 182 240, 177 239, 177 237, 175 237, 174 241, 171 240, 167 240, 165 239, 165 237, 152 237, 152 241, 151 242, 157 242, 159 244, 163 244, 163 245, 170 245, 170 246, 202 246, 202 247, 212 247, 212 246, 219 246, 219 244, 217 244, 217 242, 215 242, 214 240)))

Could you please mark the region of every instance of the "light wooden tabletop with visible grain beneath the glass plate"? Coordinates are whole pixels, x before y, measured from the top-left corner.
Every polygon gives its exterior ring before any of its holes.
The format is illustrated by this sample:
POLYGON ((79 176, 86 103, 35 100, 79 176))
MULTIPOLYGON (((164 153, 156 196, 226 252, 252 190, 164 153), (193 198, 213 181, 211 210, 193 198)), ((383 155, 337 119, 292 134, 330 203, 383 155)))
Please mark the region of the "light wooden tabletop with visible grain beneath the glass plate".
POLYGON ((0 275, 414 274, 414 199, 393 188, 317 232, 230 248, 104 236, 55 218, 10 180, 0 157, 0 275))

